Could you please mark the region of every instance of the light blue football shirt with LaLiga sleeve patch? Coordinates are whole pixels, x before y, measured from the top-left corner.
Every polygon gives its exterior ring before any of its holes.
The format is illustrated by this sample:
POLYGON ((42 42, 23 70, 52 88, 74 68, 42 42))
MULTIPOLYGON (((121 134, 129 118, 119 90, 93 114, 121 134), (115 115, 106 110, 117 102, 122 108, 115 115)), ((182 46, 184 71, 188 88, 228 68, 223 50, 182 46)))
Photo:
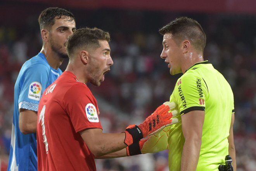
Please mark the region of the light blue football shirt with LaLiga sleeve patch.
POLYGON ((43 53, 38 53, 23 64, 14 86, 14 116, 8 171, 37 171, 36 133, 21 133, 19 109, 38 111, 43 91, 61 74, 61 69, 50 67, 43 53))

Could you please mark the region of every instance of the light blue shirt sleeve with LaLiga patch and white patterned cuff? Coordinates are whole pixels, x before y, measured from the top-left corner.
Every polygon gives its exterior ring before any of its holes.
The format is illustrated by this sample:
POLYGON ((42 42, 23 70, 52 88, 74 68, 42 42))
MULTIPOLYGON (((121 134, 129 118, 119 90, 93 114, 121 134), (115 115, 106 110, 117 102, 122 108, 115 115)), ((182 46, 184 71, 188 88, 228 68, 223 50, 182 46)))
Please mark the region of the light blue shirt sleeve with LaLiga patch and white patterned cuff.
POLYGON ((47 88, 50 68, 43 64, 28 67, 20 80, 19 109, 38 111, 43 91, 47 88))

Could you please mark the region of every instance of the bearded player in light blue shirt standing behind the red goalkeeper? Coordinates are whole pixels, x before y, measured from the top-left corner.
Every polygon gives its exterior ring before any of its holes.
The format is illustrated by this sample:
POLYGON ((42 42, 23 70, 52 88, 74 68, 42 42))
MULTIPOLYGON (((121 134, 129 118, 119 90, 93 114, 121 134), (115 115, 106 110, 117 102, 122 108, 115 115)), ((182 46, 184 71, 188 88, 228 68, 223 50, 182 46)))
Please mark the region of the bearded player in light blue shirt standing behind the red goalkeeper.
POLYGON ((62 71, 67 38, 76 29, 74 15, 61 8, 47 8, 38 18, 43 47, 22 66, 14 86, 14 116, 8 171, 36 171, 36 125, 43 91, 62 71))

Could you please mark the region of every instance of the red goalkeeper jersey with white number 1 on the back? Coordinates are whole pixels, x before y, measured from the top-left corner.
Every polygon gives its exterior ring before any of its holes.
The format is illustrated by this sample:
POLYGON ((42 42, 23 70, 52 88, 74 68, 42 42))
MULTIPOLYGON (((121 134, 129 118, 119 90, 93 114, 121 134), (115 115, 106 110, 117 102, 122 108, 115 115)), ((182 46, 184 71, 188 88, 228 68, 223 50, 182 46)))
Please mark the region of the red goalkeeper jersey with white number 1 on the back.
POLYGON ((38 171, 96 171, 79 132, 102 129, 98 113, 92 92, 73 73, 66 71, 51 84, 38 106, 38 171))

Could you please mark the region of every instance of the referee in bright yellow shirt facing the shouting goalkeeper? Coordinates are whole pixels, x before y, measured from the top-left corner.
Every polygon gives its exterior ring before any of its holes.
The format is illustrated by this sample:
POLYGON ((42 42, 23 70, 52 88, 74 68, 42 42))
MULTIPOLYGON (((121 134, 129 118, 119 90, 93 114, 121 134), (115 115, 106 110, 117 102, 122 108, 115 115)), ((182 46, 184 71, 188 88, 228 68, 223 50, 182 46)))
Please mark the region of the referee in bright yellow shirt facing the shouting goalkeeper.
POLYGON ((181 123, 169 131, 169 168, 173 171, 216 171, 233 159, 234 95, 227 80, 204 61, 206 35, 201 25, 180 17, 159 30, 170 74, 183 73, 170 101, 178 104, 181 123))

